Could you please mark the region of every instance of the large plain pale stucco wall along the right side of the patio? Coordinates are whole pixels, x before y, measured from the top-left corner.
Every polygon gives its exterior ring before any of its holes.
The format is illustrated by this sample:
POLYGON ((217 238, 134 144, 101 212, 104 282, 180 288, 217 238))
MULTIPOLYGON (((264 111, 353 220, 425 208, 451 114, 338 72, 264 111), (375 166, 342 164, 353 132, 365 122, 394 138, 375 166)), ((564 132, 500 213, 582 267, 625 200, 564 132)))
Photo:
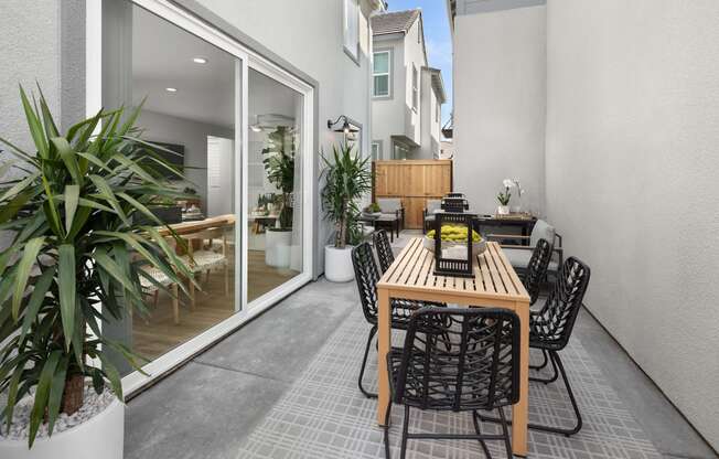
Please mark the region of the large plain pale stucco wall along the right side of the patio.
POLYGON ((592 268, 588 308, 719 448, 719 2, 547 15, 548 216, 592 268))

